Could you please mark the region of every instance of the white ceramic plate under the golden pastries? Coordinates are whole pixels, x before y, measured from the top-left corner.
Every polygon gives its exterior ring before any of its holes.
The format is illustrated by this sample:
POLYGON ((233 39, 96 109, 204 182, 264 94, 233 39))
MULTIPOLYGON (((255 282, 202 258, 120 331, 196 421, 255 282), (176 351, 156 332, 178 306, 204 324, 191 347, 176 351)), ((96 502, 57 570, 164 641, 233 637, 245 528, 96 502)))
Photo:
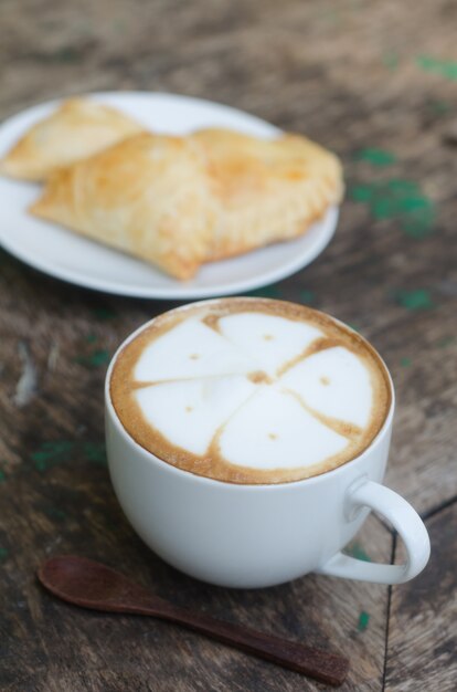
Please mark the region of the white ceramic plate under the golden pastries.
MULTIPOLYGON (((159 93, 116 92, 93 98, 134 116, 156 132, 185 134, 198 127, 228 127, 258 137, 279 130, 241 111, 208 101, 159 93)), ((0 126, 0 157, 57 102, 23 111, 0 126)), ((192 281, 179 282, 120 252, 33 218, 26 208, 38 197, 34 184, 0 177, 0 243, 26 264, 81 286, 148 298, 199 298, 230 295, 279 281, 309 264, 333 235, 332 208, 302 238, 206 264, 192 281)))

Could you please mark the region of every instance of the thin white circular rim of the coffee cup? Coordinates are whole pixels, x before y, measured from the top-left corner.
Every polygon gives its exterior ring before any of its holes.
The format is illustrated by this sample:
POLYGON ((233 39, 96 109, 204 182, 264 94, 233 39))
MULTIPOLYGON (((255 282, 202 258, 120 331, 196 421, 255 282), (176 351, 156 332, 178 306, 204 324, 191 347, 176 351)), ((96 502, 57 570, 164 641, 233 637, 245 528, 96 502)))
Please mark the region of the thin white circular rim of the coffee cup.
MULTIPOLYGON (((230 300, 234 301, 236 300, 236 297, 242 298, 243 301, 246 300, 252 300, 253 302, 258 302, 258 301, 275 301, 277 303, 286 303, 286 302, 290 302, 290 301, 279 301, 276 298, 262 298, 262 297, 249 297, 249 296, 233 296, 230 300)), ((223 298, 209 298, 205 301, 194 301, 193 303, 187 303, 185 305, 180 305, 178 307, 174 307, 170 311, 166 311, 166 312, 174 312, 174 311, 184 311, 188 308, 193 307, 194 305, 203 305, 203 304, 210 304, 210 303, 217 303, 223 298)), ((354 464, 361 462, 368 453, 371 453, 373 451, 373 449, 375 449, 381 441, 383 440, 383 438, 385 437, 385 434, 389 432, 389 430, 392 427, 392 421, 393 421, 393 416, 394 416, 394 411, 395 411, 395 389, 394 389, 394 385, 393 385, 393 380, 392 380, 392 376, 389 371, 389 368, 384 361, 384 359, 381 357, 381 355, 378 353, 378 350, 374 348, 374 346, 361 334, 357 333, 355 329, 353 329, 352 327, 350 327, 349 325, 347 325, 344 322, 341 322, 340 319, 338 319, 337 317, 333 317, 333 315, 329 315, 328 313, 325 313, 323 311, 319 311, 316 308, 309 308, 312 310, 316 313, 320 313, 326 315, 326 317, 330 317, 331 319, 333 319, 338 325, 342 326, 344 329, 355 333, 358 335, 359 338, 362 339, 362 342, 375 354, 375 356, 378 357, 381 366, 384 368, 385 375, 386 375, 386 380, 389 382, 389 387, 390 387, 390 395, 391 395, 391 401, 390 401, 390 407, 389 407, 389 411, 384 418, 384 421, 380 428, 380 430, 378 431, 378 433, 375 434, 375 437, 372 439, 372 441, 370 442, 370 444, 357 457, 354 457, 353 459, 350 459, 349 461, 346 461, 344 463, 340 464, 339 466, 337 466, 336 469, 331 469, 330 471, 325 471, 323 473, 319 473, 306 479, 299 479, 297 481, 285 481, 281 483, 232 483, 228 481, 221 481, 219 479, 212 479, 209 478, 206 475, 199 475, 198 473, 193 473, 192 471, 188 471, 185 469, 181 469, 180 466, 176 466, 167 461, 164 461, 163 459, 160 459, 160 457, 157 457, 156 454, 153 454, 152 452, 150 452, 149 450, 145 449, 141 444, 139 444, 125 429, 125 427, 123 426, 116 409, 114 408, 113 401, 111 401, 111 396, 110 396, 110 390, 109 390, 109 382, 110 382, 110 378, 111 378, 111 373, 113 373, 113 368, 114 365, 117 360, 118 355, 120 354, 120 352, 130 343, 132 342, 141 332, 144 332, 147 327, 149 327, 155 319, 157 319, 157 317, 159 317, 161 314, 156 315, 155 317, 152 317, 151 319, 149 319, 148 322, 145 322, 142 325, 140 325, 137 329, 135 329, 134 332, 131 332, 123 342, 121 344, 118 346, 118 348, 116 349, 115 354, 113 355, 109 365, 108 365, 108 369, 106 371, 106 376, 105 376, 105 385, 104 385, 104 395, 105 395, 105 410, 107 412, 107 415, 109 415, 111 421, 114 422, 117 431, 121 434, 121 437, 134 447, 135 450, 137 450, 138 452, 141 453, 141 455, 147 459, 149 462, 151 463, 158 463, 161 468, 170 471, 171 473, 176 473, 178 475, 182 475, 184 474, 184 478, 188 478, 189 480, 192 479, 195 482, 202 482, 202 483, 206 483, 210 485, 214 485, 216 484, 216 486, 221 486, 223 485, 224 487, 232 487, 235 490, 241 490, 241 489, 246 489, 246 490, 255 490, 255 489, 262 489, 264 492, 266 491, 266 489, 278 489, 278 487, 286 487, 286 486, 293 486, 296 487, 302 483, 306 483, 307 485, 311 485, 318 482, 322 482, 325 479, 327 478, 336 478, 338 474, 343 473, 346 469, 348 469, 349 466, 353 466, 354 464)), ((106 423, 105 423, 106 426, 106 423)))

